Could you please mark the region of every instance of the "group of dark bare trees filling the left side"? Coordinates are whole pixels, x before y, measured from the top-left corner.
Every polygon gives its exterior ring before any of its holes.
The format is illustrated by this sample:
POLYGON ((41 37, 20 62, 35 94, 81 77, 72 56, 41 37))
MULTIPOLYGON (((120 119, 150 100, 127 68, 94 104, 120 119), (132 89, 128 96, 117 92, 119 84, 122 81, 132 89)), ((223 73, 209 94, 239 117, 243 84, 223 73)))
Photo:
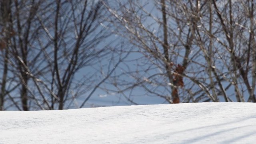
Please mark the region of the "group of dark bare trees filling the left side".
POLYGON ((1 110, 82 107, 115 69, 97 73, 112 51, 102 1, 0 0, 0 8, 1 110))

